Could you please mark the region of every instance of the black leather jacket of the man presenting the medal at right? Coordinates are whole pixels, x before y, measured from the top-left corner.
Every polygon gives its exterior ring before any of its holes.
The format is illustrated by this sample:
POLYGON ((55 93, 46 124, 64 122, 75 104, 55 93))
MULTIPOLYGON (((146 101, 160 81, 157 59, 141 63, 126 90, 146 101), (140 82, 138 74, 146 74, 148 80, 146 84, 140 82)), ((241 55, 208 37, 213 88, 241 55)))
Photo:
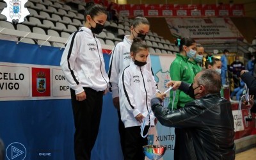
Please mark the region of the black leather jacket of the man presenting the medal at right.
POLYGON ((180 128, 184 143, 180 159, 235 159, 234 120, 231 104, 219 93, 205 95, 170 111, 161 99, 151 101, 152 111, 164 126, 180 128))

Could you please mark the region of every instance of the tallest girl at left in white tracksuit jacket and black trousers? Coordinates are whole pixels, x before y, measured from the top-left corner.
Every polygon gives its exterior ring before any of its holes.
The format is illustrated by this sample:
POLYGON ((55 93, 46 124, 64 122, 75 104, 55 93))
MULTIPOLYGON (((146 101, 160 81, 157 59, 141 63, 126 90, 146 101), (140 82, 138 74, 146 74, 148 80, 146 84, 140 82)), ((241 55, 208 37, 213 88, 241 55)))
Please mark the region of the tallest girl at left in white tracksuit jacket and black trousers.
POLYGON ((102 98, 109 83, 102 48, 95 37, 106 22, 106 9, 87 3, 84 17, 84 27, 70 35, 61 58, 61 68, 70 86, 76 127, 74 151, 79 160, 91 157, 99 131, 102 98))

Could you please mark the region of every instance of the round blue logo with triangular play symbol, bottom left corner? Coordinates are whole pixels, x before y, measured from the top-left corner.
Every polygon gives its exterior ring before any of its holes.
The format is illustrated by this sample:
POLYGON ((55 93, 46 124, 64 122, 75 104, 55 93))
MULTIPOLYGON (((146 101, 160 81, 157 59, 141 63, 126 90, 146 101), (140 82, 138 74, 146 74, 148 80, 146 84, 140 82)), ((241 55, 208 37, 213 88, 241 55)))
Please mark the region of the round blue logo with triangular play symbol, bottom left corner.
POLYGON ((19 142, 13 142, 6 148, 6 157, 8 160, 23 160, 27 155, 27 150, 19 142))

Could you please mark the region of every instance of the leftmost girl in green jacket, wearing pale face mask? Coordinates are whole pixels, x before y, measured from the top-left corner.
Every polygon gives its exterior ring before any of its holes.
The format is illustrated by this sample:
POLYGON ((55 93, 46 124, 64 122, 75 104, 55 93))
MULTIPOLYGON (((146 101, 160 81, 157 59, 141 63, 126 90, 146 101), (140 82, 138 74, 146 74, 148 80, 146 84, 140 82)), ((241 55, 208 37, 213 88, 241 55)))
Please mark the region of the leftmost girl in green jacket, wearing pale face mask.
MULTIPOLYGON (((175 45, 179 47, 179 53, 176 54, 175 60, 170 66, 170 77, 172 81, 184 81, 186 83, 193 83, 195 73, 193 67, 189 64, 189 58, 193 58, 196 55, 196 42, 193 38, 177 38, 175 45)), ((173 109, 184 108, 185 104, 192 102, 194 99, 189 97, 186 93, 176 90, 175 99, 173 99, 173 91, 170 92, 170 104, 169 109, 172 109, 172 102, 174 102, 173 109)), ((179 128, 175 128, 175 148, 174 159, 179 159, 182 154, 183 148, 180 148, 179 128)))

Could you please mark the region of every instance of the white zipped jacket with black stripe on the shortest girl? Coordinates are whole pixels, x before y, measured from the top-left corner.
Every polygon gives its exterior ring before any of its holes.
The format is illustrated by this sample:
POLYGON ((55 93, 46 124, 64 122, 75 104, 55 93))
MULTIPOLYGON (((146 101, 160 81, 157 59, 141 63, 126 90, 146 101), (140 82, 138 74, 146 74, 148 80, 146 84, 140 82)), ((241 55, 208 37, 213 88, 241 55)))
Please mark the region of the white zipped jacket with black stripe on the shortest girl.
MULTIPOLYGON (((146 117, 151 110, 150 100, 156 97, 154 78, 145 67, 138 67, 131 61, 119 79, 120 112, 125 128, 140 126, 141 124, 135 119, 135 116, 141 113, 146 117)), ((145 125, 155 125, 154 119, 154 113, 151 111, 145 125), (148 119, 150 119, 150 124, 148 119)))

